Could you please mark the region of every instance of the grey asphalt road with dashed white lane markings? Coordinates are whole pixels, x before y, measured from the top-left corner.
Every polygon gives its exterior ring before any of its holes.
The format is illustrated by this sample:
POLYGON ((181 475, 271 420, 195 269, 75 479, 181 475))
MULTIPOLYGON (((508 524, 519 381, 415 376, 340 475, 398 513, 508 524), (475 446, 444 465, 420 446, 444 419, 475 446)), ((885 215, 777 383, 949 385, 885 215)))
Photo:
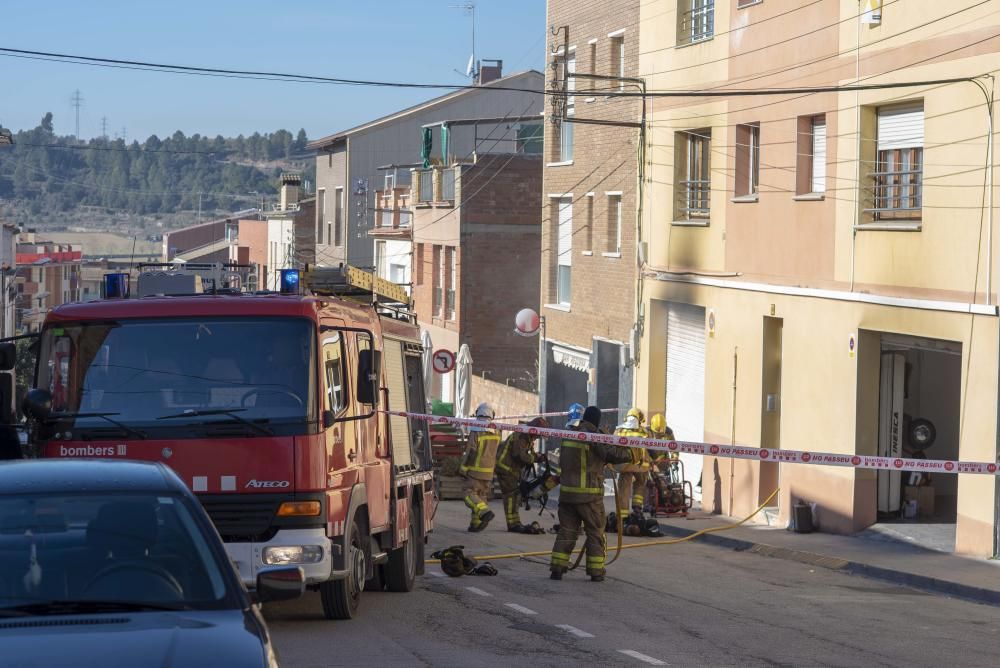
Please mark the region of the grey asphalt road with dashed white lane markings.
MULTIPOLYGON (((443 502, 431 549, 551 549, 551 535, 507 534, 498 511, 473 535, 464 506, 443 502)), ((603 583, 582 568, 549 580, 544 558, 494 565, 496 577, 461 578, 428 566, 412 593, 366 592, 349 622, 325 621, 315 594, 265 614, 283 665, 302 668, 957 667, 1000 656, 1000 608, 694 542, 627 550, 603 583)))

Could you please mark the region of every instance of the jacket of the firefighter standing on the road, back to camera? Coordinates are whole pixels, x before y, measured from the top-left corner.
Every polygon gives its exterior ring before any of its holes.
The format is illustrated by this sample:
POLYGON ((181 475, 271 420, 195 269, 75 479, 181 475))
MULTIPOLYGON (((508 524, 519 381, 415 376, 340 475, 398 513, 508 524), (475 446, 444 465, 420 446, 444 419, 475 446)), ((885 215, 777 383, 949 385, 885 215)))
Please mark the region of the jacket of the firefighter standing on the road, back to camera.
MULTIPOLYGON (((578 429, 597 432, 597 428, 589 422, 581 422, 578 429)), ((564 440, 559 447, 559 503, 587 503, 603 499, 604 467, 628 463, 638 463, 629 448, 564 440)))

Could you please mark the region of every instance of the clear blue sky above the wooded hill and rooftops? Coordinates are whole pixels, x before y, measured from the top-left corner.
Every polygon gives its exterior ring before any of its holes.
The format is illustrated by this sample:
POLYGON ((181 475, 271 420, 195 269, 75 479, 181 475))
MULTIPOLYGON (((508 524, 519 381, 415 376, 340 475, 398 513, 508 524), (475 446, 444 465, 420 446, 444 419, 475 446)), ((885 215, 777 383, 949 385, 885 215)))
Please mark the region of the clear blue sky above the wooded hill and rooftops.
MULTIPOLYGON (((461 84, 471 51, 465 0, 19 0, 0 9, 0 45, 105 58, 406 82, 461 84)), ((478 0, 476 53, 507 73, 543 66, 545 0, 478 0)), ((214 136, 304 127, 310 138, 443 91, 376 89, 135 72, 0 57, 0 124, 55 115, 72 134, 126 128, 214 136)))

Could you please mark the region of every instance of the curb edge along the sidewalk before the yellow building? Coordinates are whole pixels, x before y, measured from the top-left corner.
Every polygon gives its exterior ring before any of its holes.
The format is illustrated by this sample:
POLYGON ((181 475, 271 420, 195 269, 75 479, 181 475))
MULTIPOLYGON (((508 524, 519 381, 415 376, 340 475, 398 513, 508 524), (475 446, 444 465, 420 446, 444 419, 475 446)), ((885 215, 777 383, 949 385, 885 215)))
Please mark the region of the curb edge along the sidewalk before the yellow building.
MULTIPOLYGON (((672 526, 669 524, 661 524, 660 531, 663 534, 669 534, 678 538, 684 538, 697 533, 693 529, 684 529, 682 527, 672 526)), ((818 566, 841 573, 847 573, 848 575, 860 575, 861 577, 866 577, 872 580, 880 580, 882 582, 911 587, 913 589, 919 589, 921 591, 934 594, 943 594, 945 596, 951 596, 952 598, 962 599, 972 603, 981 603, 984 605, 1000 607, 1000 590, 996 589, 976 587, 928 575, 907 573, 906 571, 897 571, 891 568, 873 566, 859 561, 850 561, 847 559, 830 557, 815 552, 792 550, 785 547, 767 545, 766 543, 755 543, 750 540, 730 538, 728 536, 720 536, 718 534, 704 534, 695 540, 707 545, 724 547, 737 552, 752 552, 765 557, 785 559, 787 561, 797 561, 809 566, 818 566)))

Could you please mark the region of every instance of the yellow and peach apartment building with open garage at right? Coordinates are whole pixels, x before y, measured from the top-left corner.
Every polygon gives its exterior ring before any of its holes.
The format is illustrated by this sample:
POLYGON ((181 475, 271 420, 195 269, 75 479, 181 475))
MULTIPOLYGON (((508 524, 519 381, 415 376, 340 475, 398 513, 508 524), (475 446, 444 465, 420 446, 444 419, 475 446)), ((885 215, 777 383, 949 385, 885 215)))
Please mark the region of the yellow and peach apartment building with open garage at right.
MULTIPOLYGON (((650 90, 832 87, 650 103, 636 392, 678 438, 997 461, 988 96, 941 80, 1000 67, 998 21, 971 1, 642 3, 650 90), (869 88, 839 88, 855 83, 869 88)), ((772 519, 815 503, 841 533, 898 517, 914 482, 686 463, 707 509, 747 514, 780 486, 772 519)), ((926 521, 995 554, 996 478, 930 487, 926 521)))

